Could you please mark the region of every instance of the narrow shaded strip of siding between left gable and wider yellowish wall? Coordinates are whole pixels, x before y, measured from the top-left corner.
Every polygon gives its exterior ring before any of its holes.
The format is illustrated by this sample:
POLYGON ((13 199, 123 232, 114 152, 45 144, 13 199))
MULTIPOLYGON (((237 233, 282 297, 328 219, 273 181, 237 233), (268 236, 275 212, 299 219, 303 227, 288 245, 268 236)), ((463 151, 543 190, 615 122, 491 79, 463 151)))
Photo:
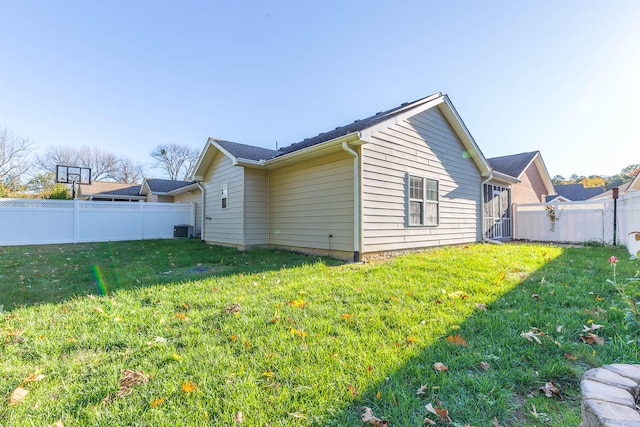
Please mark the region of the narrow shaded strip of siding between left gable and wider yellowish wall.
POLYGON ((266 246, 269 244, 269 173, 245 168, 244 183, 244 244, 266 246))

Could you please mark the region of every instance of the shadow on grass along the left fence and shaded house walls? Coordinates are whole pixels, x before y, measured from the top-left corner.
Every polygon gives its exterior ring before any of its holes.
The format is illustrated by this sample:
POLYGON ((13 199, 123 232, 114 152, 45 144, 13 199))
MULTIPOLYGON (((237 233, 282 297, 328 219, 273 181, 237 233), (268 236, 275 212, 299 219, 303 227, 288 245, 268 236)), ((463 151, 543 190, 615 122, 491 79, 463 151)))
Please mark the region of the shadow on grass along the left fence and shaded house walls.
POLYGON ((0 247, 0 306, 10 311, 77 296, 316 262, 341 264, 333 258, 271 249, 243 252, 194 239, 0 247))

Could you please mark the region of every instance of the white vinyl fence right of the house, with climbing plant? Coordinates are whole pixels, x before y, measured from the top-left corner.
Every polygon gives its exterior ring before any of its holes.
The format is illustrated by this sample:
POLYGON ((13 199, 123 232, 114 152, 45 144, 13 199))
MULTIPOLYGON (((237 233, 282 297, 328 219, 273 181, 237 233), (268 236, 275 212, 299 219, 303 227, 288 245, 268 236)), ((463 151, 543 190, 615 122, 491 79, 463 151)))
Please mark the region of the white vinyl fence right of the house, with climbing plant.
MULTIPOLYGON (((640 240, 636 240, 640 236, 640 192, 620 197, 616 211, 616 244, 627 246, 635 255, 640 250, 640 240)), ((516 204, 514 219, 518 240, 614 243, 613 199, 516 204)))

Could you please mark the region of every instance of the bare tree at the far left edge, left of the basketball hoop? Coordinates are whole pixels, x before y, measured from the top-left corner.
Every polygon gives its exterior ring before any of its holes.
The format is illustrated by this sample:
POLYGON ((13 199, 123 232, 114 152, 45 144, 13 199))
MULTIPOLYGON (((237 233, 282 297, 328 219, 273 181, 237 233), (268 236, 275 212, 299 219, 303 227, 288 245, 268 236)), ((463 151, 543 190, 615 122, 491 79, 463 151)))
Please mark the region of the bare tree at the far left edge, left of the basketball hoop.
POLYGON ((0 184, 17 189, 29 170, 29 150, 33 144, 15 135, 7 128, 0 128, 0 184))

